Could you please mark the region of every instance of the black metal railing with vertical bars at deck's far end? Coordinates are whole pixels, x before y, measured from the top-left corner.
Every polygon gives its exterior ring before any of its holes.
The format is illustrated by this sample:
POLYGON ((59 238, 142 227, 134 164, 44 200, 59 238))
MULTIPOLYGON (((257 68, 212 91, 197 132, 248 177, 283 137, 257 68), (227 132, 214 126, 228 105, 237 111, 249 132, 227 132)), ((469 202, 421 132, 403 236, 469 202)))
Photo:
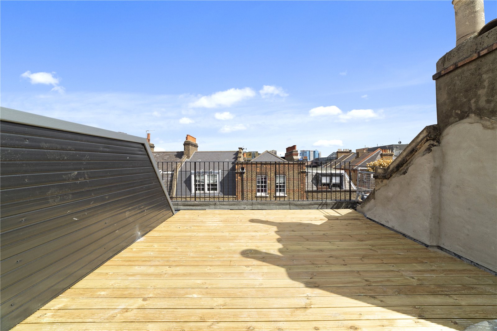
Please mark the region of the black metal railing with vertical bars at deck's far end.
MULTIPOLYGON (((351 201, 349 162, 158 162, 172 201, 351 201)), ((353 171, 353 169, 352 169, 353 171)))

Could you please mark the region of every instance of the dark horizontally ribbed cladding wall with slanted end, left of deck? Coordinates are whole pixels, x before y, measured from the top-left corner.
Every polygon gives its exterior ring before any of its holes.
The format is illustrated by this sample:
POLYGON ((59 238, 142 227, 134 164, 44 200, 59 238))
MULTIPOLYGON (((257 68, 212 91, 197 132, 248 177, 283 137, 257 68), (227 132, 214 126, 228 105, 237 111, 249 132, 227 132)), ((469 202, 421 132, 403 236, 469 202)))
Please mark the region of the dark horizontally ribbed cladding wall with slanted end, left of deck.
POLYGON ((174 211, 145 139, 4 111, 45 123, 0 123, 0 329, 8 330, 174 211))

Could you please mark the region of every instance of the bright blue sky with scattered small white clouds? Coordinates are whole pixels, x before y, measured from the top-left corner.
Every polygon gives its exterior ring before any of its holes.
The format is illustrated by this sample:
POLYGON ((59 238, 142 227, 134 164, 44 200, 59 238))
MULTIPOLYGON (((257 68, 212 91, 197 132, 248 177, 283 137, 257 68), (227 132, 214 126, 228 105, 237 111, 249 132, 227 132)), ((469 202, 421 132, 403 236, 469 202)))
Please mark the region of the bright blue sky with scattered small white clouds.
MULTIPOLYGON (((497 1, 485 1, 486 21, 497 1)), ((159 150, 357 149, 436 123, 444 1, 1 1, 1 105, 159 150)))

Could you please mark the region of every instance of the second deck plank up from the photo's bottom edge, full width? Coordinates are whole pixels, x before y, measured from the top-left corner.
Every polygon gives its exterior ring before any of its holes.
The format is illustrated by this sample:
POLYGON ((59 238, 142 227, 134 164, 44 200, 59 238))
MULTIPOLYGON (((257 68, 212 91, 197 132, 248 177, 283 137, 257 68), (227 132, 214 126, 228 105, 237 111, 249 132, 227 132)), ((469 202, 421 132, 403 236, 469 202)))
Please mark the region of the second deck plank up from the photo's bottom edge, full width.
POLYGON ((249 308, 249 309, 70 309, 39 310, 30 319, 55 322, 250 322, 250 321, 337 321, 465 318, 486 319, 496 313, 486 306, 413 306, 395 310, 371 306, 338 308, 249 308))

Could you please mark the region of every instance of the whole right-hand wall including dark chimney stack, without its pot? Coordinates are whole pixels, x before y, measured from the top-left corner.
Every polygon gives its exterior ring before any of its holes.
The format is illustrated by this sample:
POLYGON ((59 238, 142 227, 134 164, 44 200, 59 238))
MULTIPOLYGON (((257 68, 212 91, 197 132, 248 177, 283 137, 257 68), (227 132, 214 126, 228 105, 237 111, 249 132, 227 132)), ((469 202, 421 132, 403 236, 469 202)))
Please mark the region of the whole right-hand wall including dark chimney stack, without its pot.
POLYGON ((433 133, 426 127, 392 165, 377 169, 376 188, 357 210, 497 271, 497 27, 491 23, 437 62, 433 133))

